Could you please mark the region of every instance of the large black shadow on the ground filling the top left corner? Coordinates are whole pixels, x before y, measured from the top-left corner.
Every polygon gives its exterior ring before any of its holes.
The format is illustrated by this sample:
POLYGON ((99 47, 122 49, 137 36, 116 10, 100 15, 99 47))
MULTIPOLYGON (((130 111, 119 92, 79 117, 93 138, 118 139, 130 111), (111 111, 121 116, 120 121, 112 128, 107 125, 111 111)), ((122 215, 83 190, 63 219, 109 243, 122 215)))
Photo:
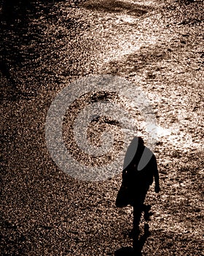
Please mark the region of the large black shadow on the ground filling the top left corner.
POLYGON ((34 64, 35 59, 39 58, 35 49, 23 50, 24 45, 31 45, 32 42, 40 44, 41 32, 36 25, 31 26, 32 20, 42 13, 48 15, 54 3, 55 1, 45 1, 44 4, 41 1, 35 3, 27 0, 1 1, 0 72, 3 81, 7 83, 7 87, 1 89, 1 99, 14 101, 34 96, 33 93, 20 91, 18 85, 21 81, 15 74, 25 64, 34 64))

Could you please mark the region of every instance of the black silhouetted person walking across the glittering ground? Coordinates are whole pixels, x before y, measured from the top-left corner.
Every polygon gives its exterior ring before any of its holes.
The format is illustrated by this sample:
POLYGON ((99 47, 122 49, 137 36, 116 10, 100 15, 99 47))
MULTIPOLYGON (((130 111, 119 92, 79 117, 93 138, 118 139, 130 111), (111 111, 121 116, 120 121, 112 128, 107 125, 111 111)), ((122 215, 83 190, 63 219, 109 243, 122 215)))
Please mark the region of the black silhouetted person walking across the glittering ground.
POLYGON ((122 186, 117 196, 116 206, 133 206, 133 249, 138 249, 139 223, 142 211, 147 220, 151 206, 144 200, 149 186, 155 181, 155 192, 160 192, 157 160, 152 151, 144 146, 142 138, 134 138, 127 148, 122 171, 122 186))

